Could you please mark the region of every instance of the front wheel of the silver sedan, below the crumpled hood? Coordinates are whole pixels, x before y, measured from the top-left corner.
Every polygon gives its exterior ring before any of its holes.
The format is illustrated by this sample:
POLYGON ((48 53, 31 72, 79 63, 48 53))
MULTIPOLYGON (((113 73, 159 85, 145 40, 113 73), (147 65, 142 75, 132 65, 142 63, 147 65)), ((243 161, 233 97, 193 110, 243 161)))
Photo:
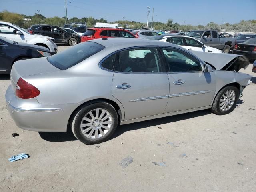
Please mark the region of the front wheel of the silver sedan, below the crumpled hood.
POLYGON ((239 99, 239 91, 235 86, 224 87, 216 95, 214 102, 212 104, 211 111, 217 115, 229 114, 230 112, 232 112, 235 109, 238 99, 239 99), (224 94, 227 95, 227 93, 231 94, 232 92, 233 92, 233 94, 231 96, 228 96, 227 98, 225 97, 224 94), (232 101, 233 101, 233 103, 232 103, 232 101), (230 106, 231 104, 232 104, 232 106, 230 106))

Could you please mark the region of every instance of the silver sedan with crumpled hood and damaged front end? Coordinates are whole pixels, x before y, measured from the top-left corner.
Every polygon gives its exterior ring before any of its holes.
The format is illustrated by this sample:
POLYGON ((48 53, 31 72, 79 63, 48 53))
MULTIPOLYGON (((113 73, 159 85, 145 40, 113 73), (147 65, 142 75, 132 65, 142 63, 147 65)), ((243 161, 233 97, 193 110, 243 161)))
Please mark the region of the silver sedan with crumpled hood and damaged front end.
POLYGON ((107 140, 119 124, 203 109, 232 112, 250 84, 250 75, 237 72, 248 60, 196 54, 154 40, 80 43, 47 58, 15 62, 7 108, 22 129, 71 128, 85 144, 107 140))

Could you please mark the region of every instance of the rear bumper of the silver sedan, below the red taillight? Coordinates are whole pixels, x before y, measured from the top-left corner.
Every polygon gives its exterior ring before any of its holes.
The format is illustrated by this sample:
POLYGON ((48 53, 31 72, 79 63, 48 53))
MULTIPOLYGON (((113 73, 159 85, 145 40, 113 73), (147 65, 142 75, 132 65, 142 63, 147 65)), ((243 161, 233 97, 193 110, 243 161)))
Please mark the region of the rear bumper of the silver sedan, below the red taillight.
POLYGON ((40 104, 36 98, 20 99, 9 86, 6 107, 19 128, 30 131, 65 132, 72 109, 70 104, 40 104))

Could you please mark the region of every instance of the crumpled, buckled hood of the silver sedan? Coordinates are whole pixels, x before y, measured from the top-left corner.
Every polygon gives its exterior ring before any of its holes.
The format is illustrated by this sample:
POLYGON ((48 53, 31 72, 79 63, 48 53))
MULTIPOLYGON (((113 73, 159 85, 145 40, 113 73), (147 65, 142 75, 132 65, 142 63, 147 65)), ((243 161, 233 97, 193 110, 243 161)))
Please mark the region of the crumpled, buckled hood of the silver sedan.
POLYGON ((243 55, 228 53, 209 53, 200 51, 191 51, 204 62, 213 66, 216 70, 239 71, 241 68, 246 69, 250 64, 248 58, 243 55))

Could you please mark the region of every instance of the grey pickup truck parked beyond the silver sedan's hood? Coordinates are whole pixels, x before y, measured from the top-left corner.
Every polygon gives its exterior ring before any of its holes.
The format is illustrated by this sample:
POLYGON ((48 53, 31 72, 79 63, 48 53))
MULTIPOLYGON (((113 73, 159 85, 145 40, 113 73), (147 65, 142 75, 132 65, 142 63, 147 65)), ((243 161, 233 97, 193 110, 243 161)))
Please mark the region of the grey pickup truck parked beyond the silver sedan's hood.
POLYGON ((216 30, 192 30, 187 36, 194 37, 203 44, 220 49, 224 53, 228 53, 236 44, 236 38, 219 37, 216 30))

